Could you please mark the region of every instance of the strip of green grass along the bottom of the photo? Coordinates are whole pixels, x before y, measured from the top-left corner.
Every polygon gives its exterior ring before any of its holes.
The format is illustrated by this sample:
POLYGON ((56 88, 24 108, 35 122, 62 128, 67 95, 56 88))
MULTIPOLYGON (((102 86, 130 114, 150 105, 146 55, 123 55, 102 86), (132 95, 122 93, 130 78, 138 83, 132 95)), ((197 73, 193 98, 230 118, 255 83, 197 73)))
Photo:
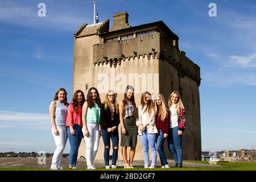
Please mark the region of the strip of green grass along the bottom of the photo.
MULTIPOLYGON (((203 161, 191 161, 185 160, 186 162, 194 163, 206 163, 203 161)), ((217 165, 222 167, 183 167, 183 168, 155 168, 155 169, 144 169, 144 168, 134 168, 134 169, 97 169, 97 171, 256 171, 256 163, 230 163, 230 162, 217 162, 217 165)), ((72 169, 74 170, 74 169, 72 169)), ((63 171, 72 171, 71 169, 64 169, 63 171)), ((43 168, 0 168, 0 171, 50 171, 49 169, 43 168)), ((85 168, 75 169, 74 171, 89 171, 85 168)))

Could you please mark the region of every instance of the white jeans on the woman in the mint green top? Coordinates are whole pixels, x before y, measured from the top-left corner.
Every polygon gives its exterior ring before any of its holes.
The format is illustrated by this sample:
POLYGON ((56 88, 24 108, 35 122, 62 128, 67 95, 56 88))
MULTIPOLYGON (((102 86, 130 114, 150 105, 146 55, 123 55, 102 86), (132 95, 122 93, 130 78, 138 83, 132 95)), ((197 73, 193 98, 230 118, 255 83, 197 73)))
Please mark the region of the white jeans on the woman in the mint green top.
MULTIPOLYGON (((98 144, 100 142, 100 128, 98 123, 86 123, 89 132, 89 137, 85 137, 85 158, 87 166, 93 165, 93 160, 98 151, 98 144)), ((82 128, 82 133, 84 134, 84 128, 82 128)))

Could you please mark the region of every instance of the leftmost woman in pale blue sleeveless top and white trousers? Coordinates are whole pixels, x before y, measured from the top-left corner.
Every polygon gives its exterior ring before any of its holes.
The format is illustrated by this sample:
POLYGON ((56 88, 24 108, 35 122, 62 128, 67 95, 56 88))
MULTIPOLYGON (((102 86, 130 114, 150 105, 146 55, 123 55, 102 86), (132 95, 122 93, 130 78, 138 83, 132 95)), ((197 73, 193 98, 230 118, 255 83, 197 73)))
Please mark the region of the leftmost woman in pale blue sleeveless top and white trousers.
POLYGON ((56 144, 56 150, 52 156, 52 170, 63 169, 61 167, 61 159, 68 139, 67 129, 65 127, 68 105, 66 90, 64 88, 58 89, 54 101, 49 105, 52 135, 56 144))

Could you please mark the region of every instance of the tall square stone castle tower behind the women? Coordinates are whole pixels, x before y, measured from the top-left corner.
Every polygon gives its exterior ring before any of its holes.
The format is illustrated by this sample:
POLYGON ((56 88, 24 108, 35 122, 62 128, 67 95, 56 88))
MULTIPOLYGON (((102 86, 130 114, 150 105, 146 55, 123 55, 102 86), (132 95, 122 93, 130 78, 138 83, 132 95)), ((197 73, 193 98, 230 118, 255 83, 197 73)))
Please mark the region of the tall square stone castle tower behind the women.
MULTIPOLYGON (((94 86, 103 102, 106 92, 111 89, 120 102, 125 86, 130 84, 134 86, 135 102, 139 106, 144 91, 152 96, 162 93, 168 102, 171 92, 177 90, 186 111, 184 159, 200 160, 200 68, 179 50, 179 37, 162 21, 131 27, 128 16, 126 12, 114 14, 110 30, 109 20, 105 20, 84 24, 75 32, 73 92, 81 89, 86 95, 94 86)), ((170 159, 166 143, 164 150, 170 159)), ((79 149, 80 156, 85 156, 84 139, 79 149)), ((101 138, 96 159, 104 159, 101 138)), ((122 159, 121 147, 118 159, 122 159)), ((134 159, 143 160, 139 139, 134 159)))

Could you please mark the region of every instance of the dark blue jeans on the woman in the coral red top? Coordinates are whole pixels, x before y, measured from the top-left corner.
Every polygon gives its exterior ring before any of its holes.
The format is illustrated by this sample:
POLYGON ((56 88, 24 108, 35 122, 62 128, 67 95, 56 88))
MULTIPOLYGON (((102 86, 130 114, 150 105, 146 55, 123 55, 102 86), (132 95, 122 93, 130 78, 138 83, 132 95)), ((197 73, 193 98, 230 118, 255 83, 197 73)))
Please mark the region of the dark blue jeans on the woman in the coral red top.
POLYGON ((75 135, 70 133, 70 127, 68 127, 68 140, 70 144, 69 166, 75 167, 79 146, 82 140, 82 127, 79 125, 74 125, 73 129, 75 130, 75 135))

